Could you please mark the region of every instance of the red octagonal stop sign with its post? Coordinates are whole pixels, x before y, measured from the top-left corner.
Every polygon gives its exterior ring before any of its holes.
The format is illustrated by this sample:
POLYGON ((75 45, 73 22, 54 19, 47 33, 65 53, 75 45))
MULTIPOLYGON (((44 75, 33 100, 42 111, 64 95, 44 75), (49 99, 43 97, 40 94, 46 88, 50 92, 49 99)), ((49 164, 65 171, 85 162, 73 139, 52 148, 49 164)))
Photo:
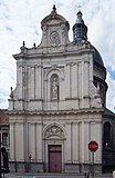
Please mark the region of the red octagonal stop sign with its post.
POLYGON ((88 150, 92 152, 92 178, 94 178, 94 152, 98 149, 98 144, 96 141, 91 141, 88 144, 88 150))

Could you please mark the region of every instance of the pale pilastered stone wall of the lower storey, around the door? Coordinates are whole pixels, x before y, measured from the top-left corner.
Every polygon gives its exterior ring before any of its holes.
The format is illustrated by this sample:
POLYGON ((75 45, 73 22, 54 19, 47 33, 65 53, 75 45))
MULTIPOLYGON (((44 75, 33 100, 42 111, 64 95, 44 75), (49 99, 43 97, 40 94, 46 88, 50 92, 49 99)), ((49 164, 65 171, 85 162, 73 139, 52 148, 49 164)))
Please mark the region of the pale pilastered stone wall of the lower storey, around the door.
MULTIPOLYGON (((48 145, 52 144, 62 145, 62 159, 64 162, 90 164, 92 158, 88 150, 88 142, 95 140, 98 142, 98 150, 95 152, 95 164, 101 164, 101 116, 95 116, 94 121, 92 121, 93 115, 87 115, 87 117, 85 118, 85 115, 82 118, 81 115, 77 117, 65 117, 62 115, 60 117, 46 116, 43 118, 31 116, 25 119, 24 127, 22 121, 15 122, 12 120, 10 123, 10 136, 14 137, 14 139, 11 137, 10 159, 17 161, 29 160, 29 156, 31 155, 33 162, 48 162, 48 145), (46 128, 55 125, 63 129, 63 137, 56 137, 52 132, 51 137, 44 139, 46 128)), ((21 118, 21 120, 23 119, 21 118)))

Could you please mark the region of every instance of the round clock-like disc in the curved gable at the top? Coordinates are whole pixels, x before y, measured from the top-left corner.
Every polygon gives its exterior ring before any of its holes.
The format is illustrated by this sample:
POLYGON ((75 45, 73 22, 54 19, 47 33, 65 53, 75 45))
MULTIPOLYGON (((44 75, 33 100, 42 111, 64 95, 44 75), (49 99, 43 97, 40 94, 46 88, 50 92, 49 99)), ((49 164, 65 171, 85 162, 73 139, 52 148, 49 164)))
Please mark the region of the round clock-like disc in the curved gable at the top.
POLYGON ((58 31, 52 31, 50 34, 51 43, 53 46, 58 46, 60 43, 60 36, 58 31))

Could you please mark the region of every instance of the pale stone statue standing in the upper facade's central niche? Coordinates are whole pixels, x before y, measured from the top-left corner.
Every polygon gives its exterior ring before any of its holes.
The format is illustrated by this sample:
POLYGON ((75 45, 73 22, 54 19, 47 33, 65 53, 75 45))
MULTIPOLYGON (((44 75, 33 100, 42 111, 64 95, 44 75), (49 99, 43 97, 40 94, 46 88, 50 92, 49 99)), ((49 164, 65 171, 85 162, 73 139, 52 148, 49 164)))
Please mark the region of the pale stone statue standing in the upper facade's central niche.
POLYGON ((59 99, 59 80, 56 76, 52 78, 52 99, 59 99))

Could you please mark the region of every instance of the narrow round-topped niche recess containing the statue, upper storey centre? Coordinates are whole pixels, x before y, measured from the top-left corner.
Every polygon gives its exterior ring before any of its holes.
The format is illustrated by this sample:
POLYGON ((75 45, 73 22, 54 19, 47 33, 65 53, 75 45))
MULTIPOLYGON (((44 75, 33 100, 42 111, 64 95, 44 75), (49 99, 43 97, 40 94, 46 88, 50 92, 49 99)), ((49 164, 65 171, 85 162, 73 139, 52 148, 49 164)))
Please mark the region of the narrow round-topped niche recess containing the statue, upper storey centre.
POLYGON ((59 100, 59 76, 51 76, 51 100, 59 100))

